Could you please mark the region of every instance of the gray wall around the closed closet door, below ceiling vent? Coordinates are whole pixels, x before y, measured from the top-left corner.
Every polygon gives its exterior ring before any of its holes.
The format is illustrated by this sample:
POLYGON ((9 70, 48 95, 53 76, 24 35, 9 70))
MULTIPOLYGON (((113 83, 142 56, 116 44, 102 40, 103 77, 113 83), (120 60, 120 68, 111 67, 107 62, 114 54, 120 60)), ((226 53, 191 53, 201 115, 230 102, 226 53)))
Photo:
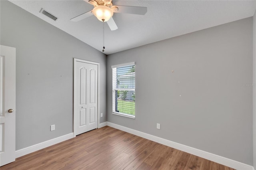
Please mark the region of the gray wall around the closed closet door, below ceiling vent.
POLYGON ((105 122, 106 55, 0 2, 1 45, 16 47, 16 150, 73 132, 74 57, 100 63, 100 122, 105 122))

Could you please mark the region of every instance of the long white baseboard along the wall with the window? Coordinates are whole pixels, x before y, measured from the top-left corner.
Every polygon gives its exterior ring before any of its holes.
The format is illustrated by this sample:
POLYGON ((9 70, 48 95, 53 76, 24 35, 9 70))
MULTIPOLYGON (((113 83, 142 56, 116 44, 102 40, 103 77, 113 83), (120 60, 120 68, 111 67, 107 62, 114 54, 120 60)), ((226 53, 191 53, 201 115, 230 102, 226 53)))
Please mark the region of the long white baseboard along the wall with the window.
POLYGON ((148 140, 152 140, 154 142, 158 142, 160 144, 164 144, 166 146, 170 146, 172 148, 175 148, 175 149, 178 149, 178 150, 182 150, 182 151, 187 152, 189 154, 193 154, 193 155, 199 156, 201 158, 205 158, 207 160, 210 160, 210 161, 213 161, 213 162, 217 162, 218 164, 222 164, 222 165, 234 168, 236 170, 254 170, 253 166, 244 164, 242 162, 238 162, 236 160, 225 158, 223 156, 212 154, 210 152, 206 152, 206 151, 203 151, 203 150, 200 150, 200 149, 192 148, 192 147, 186 146, 184 144, 179 144, 179 143, 176 143, 176 142, 172 142, 172 141, 166 140, 164 138, 153 136, 151 134, 140 132, 138 130, 134 130, 134 129, 131 129, 131 128, 123 127, 123 126, 120 126, 120 125, 116 125, 116 124, 111 123, 111 122, 107 122, 107 125, 109 127, 113 127, 113 128, 122 130, 124 132, 135 134, 135 135, 140 136, 142 138, 146 138, 148 140))

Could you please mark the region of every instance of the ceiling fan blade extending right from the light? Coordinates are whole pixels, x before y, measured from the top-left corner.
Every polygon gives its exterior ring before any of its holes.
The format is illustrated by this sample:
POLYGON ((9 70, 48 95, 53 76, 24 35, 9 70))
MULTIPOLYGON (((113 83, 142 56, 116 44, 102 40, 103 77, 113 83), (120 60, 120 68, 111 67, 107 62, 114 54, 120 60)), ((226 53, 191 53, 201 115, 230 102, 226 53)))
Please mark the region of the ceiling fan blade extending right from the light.
POLYGON ((140 6, 116 6, 118 8, 117 13, 126 13, 126 14, 137 14, 145 15, 147 13, 147 7, 140 6))

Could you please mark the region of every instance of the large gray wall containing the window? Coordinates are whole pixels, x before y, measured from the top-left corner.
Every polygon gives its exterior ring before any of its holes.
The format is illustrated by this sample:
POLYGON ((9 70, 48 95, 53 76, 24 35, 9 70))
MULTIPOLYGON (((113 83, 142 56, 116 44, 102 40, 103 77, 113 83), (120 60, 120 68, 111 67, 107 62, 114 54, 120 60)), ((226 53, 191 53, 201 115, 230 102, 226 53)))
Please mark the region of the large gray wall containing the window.
POLYGON ((107 117, 252 165, 251 84, 252 18, 246 18, 108 55, 107 117), (136 119, 112 115, 111 65, 132 61, 136 119))

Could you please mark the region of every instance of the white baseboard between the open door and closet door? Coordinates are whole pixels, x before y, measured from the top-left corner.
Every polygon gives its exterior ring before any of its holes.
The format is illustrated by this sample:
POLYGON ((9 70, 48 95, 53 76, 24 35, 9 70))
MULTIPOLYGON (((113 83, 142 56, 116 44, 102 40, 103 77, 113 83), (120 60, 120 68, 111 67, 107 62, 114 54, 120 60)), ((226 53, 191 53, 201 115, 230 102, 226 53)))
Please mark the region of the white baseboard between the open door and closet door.
POLYGON ((54 138, 54 139, 50 139, 50 140, 47 140, 47 141, 44 141, 44 142, 41 142, 41 143, 38 143, 38 144, 34 144, 32 146, 28 146, 28 147, 20 149, 20 150, 16 150, 15 158, 19 158, 20 156, 30 154, 30 153, 35 152, 37 150, 46 148, 48 146, 52 146, 54 144, 63 142, 65 140, 71 139, 73 137, 74 137, 74 133, 69 133, 69 134, 65 134, 63 136, 54 138))

